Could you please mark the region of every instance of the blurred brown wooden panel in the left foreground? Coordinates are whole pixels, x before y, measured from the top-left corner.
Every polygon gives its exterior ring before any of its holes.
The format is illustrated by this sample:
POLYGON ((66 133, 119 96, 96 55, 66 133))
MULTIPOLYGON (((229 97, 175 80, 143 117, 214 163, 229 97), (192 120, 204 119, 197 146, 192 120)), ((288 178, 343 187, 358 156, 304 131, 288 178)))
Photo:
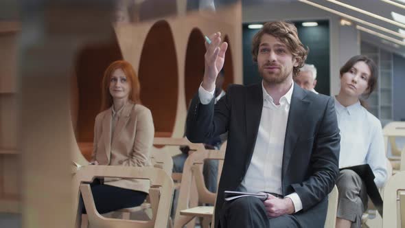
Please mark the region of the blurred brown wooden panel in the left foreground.
MULTIPOLYGON (((22 226, 74 227, 71 151, 71 76, 80 47, 111 37, 113 1, 22 1, 21 67, 22 226), (38 20, 39 19, 39 20, 38 20), (30 31, 36 30, 38 34, 30 31)), ((86 67, 95 67, 87 65, 86 67)), ((97 67, 97 66, 96 66, 97 67)), ((78 76, 79 77, 79 76, 78 76)), ((99 81, 94 81, 97 87, 99 81)), ((90 91, 88 91, 90 92, 90 91)))

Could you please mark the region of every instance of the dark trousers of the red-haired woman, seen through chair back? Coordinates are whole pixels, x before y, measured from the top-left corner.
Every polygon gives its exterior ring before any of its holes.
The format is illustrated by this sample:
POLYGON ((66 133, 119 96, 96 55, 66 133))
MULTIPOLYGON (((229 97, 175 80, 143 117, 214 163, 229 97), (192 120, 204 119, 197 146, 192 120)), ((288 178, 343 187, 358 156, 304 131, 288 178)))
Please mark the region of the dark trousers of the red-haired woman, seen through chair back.
MULTIPOLYGON (((104 185, 99 179, 95 179, 95 181, 91 183, 91 193, 93 194, 95 208, 100 214, 114 212, 127 207, 137 207, 141 205, 143 201, 145 201, 146 196, 148 196, 146 192, 104 185)), ((80 196, 79 208, 82 208, 82 213, 86 214, 82 196, 80 196)))

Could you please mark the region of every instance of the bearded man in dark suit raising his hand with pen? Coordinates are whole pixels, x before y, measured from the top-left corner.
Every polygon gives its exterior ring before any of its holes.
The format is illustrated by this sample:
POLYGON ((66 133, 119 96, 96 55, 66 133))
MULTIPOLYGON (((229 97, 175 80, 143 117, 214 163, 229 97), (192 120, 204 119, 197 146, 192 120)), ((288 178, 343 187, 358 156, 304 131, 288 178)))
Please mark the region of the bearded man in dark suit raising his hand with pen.
POLYGON ((263 80, 232 85, 214 106, 215 80, 227 43, 205 43, 205 75, 187 114, 187 138, 199 143, 228 132, 218 187, 216 227, 323 227, 327 194, 338 175, 334 100, 292 81, 308 54, 291 23, 266 23, 253 38, 263 80), (305 121, 303 121, 305 119, 305 121), (267 192, 224 201, 224 190, 267 192))

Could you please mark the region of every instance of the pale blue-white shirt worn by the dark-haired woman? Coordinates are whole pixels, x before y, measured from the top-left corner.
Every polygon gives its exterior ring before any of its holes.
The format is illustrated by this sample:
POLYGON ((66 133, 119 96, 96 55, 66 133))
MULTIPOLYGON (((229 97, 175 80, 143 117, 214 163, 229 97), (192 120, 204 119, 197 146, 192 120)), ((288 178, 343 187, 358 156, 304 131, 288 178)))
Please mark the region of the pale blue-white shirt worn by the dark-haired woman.
POLYGON ((369 164, 377 187, 383 187, 388 177, 384 137, 381 122, 360 102, 343 106, 335 98, 340 129, 339 168, 369 164))

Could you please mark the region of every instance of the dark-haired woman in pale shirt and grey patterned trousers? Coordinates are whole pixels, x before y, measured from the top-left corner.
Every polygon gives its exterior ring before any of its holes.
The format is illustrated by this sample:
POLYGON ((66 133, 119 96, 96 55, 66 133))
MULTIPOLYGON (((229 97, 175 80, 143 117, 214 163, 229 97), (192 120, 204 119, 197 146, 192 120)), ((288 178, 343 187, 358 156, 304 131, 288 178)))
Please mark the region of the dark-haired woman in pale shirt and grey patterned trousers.
MULTIPOLYGON (((383 187, 387 169, 381 123, 360 99, 373 92, 377 76, 373 60, 367 56, 350 58, 340 68, 335 109, 340 128, 339 168, 369 164, 375 185, 383 187)), ((341 170, 336 185, 339 192, 336 227, 361 227, 368 200, 362 176, 353 170, 341 170)))

